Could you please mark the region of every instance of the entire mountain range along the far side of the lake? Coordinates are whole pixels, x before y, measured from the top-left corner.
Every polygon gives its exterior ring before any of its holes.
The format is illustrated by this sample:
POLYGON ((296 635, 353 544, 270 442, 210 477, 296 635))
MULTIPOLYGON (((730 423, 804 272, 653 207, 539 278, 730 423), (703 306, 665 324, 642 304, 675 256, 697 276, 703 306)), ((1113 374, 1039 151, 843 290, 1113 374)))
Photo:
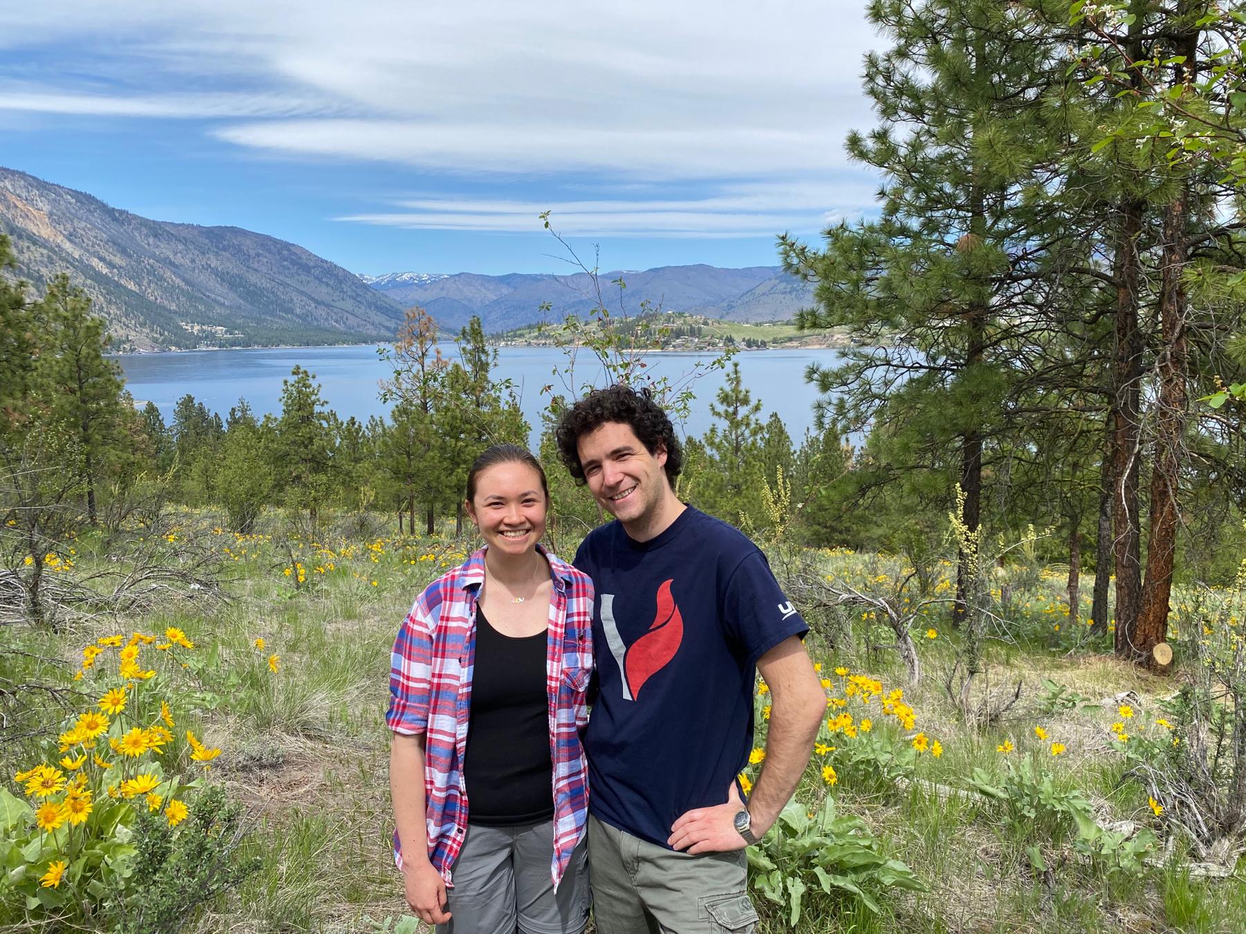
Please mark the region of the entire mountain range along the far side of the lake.
POLYGON ((598 300, 614 315, 660 308, 739 321, 785 320, 812 300, 778 267, 660 267, 596 283, 586 273, 361 276, 274 237, 151 220, 2 167, 0 234, 16 254, 0 274, 37 291, 67 273, 122 351, 384 341, 414 304, 445 331, 480 315, 500 333, 583 315, 598 300))

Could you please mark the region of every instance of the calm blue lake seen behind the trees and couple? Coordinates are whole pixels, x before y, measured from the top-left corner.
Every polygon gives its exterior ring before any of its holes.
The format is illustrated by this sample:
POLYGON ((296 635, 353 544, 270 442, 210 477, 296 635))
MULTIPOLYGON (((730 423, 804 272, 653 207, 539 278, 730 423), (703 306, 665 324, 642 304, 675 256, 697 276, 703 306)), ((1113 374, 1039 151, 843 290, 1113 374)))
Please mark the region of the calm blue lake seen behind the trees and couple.
MULTIPOLYGON (((455 357, 452 344, 442 352, 455 357)), ((341 418, 355 416, 366 422, 373 415, 386 415, 389 406, 378 397, 378 384, 390 375, 389 367, 376 356, 375 346, 348 347, 275 347, 248 350, 192 350, 168 354, 138 354, 113 357, 126 375, 126 386, 142 405, 152 401, 164 421, 173 416, 177 400, 189 392, 208 408, 224 417, 231 406, 245 399, 257 415, 280 411, 282 380, 289 377, 295 364, 315 374, 326 405, 341 418)), ((649 370, 678 382, 698 361, 708 362, 713 354, 650 354, 645 357, 649 370)), ((744 385, 761 401, 763 421, 778 412, 796 443, 805 430, 814 425, 816 391, 805 382, 809 364, 832 365, 839 359, 835 350, 800 347, 792 350, 744 351, 735 355, 744 385)), ((577 359, 578 382, 599 384, 604 380, 596 361, 582 351, 577 359)), ((563 391, 556 369, 564 367, 567 357, 557 347, 501 347, 497 354, 497 379, 510 379, 523 413, 533 426, 531 443, 537 443, 540 412, 548 402, 541 389, 549 384, 563 391)), ((684 435, 704 435, 711 422, 709 403, 723 386, 725 374, 710 372, 694 385, 697 400, 688 421, 680 426, 684 435)))

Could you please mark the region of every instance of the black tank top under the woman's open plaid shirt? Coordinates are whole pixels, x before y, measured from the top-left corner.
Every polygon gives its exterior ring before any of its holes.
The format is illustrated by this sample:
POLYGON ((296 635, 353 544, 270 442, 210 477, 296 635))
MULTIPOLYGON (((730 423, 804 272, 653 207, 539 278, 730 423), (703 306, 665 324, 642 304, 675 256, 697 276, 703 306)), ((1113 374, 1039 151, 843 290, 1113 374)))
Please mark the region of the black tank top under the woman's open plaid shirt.
POLYGON ((467 819, 487 827, 553 817, 545 631, 502 635, 476 608, 476 663, 464 782, 467 819))

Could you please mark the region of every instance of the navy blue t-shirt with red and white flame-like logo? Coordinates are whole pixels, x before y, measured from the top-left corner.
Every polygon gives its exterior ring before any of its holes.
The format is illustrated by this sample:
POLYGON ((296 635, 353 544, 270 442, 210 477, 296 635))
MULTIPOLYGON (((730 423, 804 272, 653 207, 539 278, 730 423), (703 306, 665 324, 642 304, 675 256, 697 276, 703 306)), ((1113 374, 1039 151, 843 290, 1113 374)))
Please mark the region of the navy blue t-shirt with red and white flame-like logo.
POLYGON ((665 847, 675 818, 726 801, 753 748, 756 661, 809 628, 758 547, 693 507, 648 542, 594 529, 574 564, 597 592, 589 811, 665 847))

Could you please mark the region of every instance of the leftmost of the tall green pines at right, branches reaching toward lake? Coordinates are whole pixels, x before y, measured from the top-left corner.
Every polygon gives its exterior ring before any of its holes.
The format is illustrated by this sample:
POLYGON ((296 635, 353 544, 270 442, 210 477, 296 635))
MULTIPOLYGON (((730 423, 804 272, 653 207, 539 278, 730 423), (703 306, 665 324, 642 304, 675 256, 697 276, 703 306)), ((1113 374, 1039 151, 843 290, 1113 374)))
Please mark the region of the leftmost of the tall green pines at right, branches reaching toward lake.
MULTIPOLYGON (((876 222, 841 224, 815 252, 780 239, 784 265, 817 283, 805 328, 846 326, 842 365, 817 370, 842 391, 849 426, 883 417, 898 469, 937 472, 981 522, 984 472, 1004 446, 1004 400, 1045 301, 1049 222, 1043 169, 1063 139, 1048 95, 1068 81, 1047 21, 1025 4, 875 0, 892 47, 866 59, 880 126, 850 154, 883 176, 876 222), (901 391, 902 390, 902 391, 901 391)), ((962 552, 954 618, 966 613, 962 552)))

